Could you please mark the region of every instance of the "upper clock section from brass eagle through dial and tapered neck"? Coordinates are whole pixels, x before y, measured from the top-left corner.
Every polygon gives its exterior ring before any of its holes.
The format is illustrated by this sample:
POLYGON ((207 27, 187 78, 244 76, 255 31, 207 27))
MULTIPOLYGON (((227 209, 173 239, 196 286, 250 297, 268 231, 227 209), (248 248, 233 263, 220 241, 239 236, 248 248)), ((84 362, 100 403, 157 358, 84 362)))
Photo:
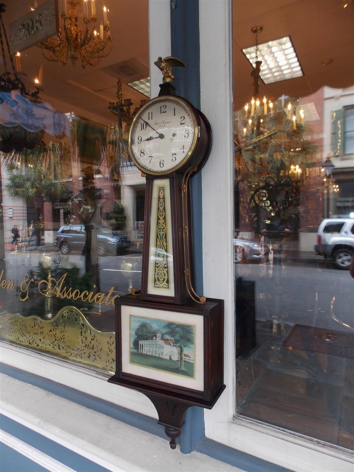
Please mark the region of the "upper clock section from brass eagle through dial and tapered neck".
POLYGON ((174 95, 171 65, 155 62, 164 72, 160 95, 139 110, 129 132, 129 152, 146 175, 145 234, 141 300, 181 304, 194 291, 189 177, 202 169, 211 151, 211 127, 201 111, 174 95))

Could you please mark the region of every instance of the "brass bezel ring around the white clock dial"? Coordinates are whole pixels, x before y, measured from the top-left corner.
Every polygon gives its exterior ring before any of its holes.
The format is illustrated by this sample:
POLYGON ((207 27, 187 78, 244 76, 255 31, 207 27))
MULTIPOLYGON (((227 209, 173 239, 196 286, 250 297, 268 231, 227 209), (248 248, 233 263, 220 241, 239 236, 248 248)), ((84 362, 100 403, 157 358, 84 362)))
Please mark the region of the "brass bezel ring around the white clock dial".
POLYGON ((200 136, 198 136, 198 134, 199 134, 198 133, 199 120, 198 120, 197 111, 195 110, 194 107, 193 108, 192 107, 193 107, 193 105, 191 105, 188 101, 184 100, 183 98, 176 97, 174 95, 162 95, 160 97, 153 98, 152 100, 145 103, 145 105, 135 115, 135 118, 134 118, 134 120, 133 120, 133 122, 130 126, 130 130, 129 130, 128 151, 129 151, 130 157, 132 158, 132 160, 135 163, 136 167, 138 169, 140 169, 144 174, 155 175, 155 176, 163 176, 163 175, 170 174, 171 172, 174 172, 175 170, 178 170, 178 169, 181 169, 181 168, 185 167, 186 162, 188 162, 188 160, 190 160, 190 158, 193 156, 193 154, 194 154, 194 152, 197 148, 197 144, 200 140, 200 136), (163 102, 166 102, 166 101, 172 101, 172 102, 175 102, 178 105, 183 105, 185 108, 187 108, 187 110, 188 110, 188 112, 189 112, 189 114, 192 118, 192 125, 194 127, 194 136, 193 136, 193 141, 192 141, 192 144, 191 144, 191 147, 190 147, 189 151, 186 153, 184 159, 177 164, 177 166, 175 166, 173 168, 170 168, 168 170, 165 170, 165 171, 162 170, 161 172, 160 171, 152 171, 150 169, 146 169, 145 167, 143 167, 141 162, 136 160, 135 155, 133 153, 133 149, 132 149, 131 137, 132 137, 132 134, 133 134, 133 130, 135 131, 135 128, 137 126, 137 122, 139 121, 140 117, 143 115, 145 110, 147 108, 151 107, 155 103, 159 103, 159 102, 163 103, 163 102))

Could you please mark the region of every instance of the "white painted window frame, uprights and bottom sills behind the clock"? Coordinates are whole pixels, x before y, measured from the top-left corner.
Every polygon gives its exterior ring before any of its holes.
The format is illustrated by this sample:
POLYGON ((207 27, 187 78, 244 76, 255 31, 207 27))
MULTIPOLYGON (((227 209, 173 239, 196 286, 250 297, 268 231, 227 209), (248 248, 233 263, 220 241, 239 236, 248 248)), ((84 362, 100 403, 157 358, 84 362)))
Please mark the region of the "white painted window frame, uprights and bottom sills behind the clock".
MULTIPOLYGON (((225 300, 227 385, 214 408, 205 411, 205 433, 208 438, 291 470, 352 472, 349 452, 258 421, 235 417, 232 2, 199 0, 199 3, 201 110, 213 131, 211 156, 202 170, 203 284, 204 295, 225 300)), ((159 93, 161 73, 153 62, 159 56, 171 54, 169 0, 149 0, 149 38, 154 97, 159 93)), ((147 397, 109 384, 106 382, 109 375, 8 343, 1 343, 1 362, 157 418, 147 397)))

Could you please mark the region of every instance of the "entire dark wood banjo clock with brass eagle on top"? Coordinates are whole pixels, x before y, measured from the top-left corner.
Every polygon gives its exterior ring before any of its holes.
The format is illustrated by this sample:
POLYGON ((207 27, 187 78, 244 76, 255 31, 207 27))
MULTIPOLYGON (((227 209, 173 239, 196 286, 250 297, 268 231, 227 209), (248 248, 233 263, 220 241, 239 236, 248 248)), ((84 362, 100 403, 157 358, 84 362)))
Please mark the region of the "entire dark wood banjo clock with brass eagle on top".
POLYGON ((212 408, 223 383, 222 300, 194 290, 189 178, 211 151, 201 111, 175 95, 171 66, 159 96, 143 106, 129 132, 129 152, 146 177, 141 289, 116 299, 116 372, 109 382, 148 396, 176 448, 187 408, 212 408))

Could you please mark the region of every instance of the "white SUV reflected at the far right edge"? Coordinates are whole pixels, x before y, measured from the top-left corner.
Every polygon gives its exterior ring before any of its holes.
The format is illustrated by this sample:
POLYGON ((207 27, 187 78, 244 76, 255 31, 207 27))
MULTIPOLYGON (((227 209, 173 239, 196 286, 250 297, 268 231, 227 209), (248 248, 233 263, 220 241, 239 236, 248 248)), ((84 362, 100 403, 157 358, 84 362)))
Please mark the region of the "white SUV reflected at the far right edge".
POLYGON ((315 251, 331 259, 337 269, 349 269, 354 254, 354 219, 324 219, 317 231, 315 251))

